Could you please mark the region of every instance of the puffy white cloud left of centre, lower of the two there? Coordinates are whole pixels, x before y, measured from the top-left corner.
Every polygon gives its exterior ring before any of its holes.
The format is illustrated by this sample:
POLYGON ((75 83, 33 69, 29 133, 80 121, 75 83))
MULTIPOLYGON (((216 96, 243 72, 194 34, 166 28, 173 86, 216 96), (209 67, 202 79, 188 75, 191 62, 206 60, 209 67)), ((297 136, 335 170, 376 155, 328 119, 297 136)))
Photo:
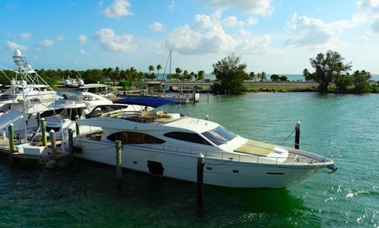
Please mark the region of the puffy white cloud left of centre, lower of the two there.
POLYGON ((119 36, 114 34, 113 29, 100 29, 93 38, 100 41, 100 46, 105 51, 133 52, 137 49, 137 45, 132 43, 133 35, 119 36))

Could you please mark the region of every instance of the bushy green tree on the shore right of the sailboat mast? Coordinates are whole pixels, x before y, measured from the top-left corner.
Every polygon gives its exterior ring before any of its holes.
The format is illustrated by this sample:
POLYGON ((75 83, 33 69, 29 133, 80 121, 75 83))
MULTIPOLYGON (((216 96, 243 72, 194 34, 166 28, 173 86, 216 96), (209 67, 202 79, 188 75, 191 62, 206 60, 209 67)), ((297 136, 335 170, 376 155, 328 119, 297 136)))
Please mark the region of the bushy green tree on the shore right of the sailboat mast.
POLYGON ((243 81, 247 76, 246 63, 240 63, 241 57, 234 53, 214 63, 213 74, 220 82, 213 84, 214 93, 241 93, 246 91, 243 81))

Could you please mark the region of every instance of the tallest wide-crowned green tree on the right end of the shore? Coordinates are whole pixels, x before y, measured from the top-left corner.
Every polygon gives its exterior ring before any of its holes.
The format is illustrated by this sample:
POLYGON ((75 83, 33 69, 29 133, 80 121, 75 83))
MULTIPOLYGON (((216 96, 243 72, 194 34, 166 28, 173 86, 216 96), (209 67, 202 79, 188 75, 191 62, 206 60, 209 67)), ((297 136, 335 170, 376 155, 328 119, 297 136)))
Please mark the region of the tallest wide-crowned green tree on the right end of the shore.
POLYGON ((329 84, 352 67, 351 62, 345 63, 345 58, 338 52, 331 50, 326 52, 325 55, 319 53, 316 58, 310 58, 310 64, 315 72, 310 73, 307 69, 304 69, 305 80, 319 83, 319 92, 321 93, 327 92, 329 84))

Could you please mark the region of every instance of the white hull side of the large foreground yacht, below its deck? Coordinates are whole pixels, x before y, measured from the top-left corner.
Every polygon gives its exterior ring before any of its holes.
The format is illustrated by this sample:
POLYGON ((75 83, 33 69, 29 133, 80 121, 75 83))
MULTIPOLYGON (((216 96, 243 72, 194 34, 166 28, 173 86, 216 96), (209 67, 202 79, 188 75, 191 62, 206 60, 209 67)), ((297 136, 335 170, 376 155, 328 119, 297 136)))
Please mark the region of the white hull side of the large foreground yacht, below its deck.
MULTIPOLYGON (((81 147, 81 152, 75 154, 81 159, 116 165, 116 152, 112 143, 75 138, 74 145, 81 147)), ((189 182, 197 181, 197 154, 194 152, 178 153, 124 146, 121 153, 123 168, 189 182)), ((236 188, 284 188, 326 166, 328 163, 257 163, 206 156, 204 183, 236 188)))

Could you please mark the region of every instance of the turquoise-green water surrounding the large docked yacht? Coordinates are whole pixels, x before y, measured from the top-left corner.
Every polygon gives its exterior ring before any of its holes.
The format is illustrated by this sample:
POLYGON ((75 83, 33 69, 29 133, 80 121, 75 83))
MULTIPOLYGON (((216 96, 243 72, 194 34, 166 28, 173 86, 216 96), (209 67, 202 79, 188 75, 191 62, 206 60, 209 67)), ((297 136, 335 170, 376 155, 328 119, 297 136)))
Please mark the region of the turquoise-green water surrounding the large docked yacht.
POLYGON ((332 157, 287 189, 204 187, 76 160, 60 168, 0 156, 0 227, 379 227, 379 95, 251 93, 160 109, 222 123, 239 135, 332 157), (288 137, 289 135, 289 137, 288 137), (286 140, 286 138, 288 138, 286 140))

